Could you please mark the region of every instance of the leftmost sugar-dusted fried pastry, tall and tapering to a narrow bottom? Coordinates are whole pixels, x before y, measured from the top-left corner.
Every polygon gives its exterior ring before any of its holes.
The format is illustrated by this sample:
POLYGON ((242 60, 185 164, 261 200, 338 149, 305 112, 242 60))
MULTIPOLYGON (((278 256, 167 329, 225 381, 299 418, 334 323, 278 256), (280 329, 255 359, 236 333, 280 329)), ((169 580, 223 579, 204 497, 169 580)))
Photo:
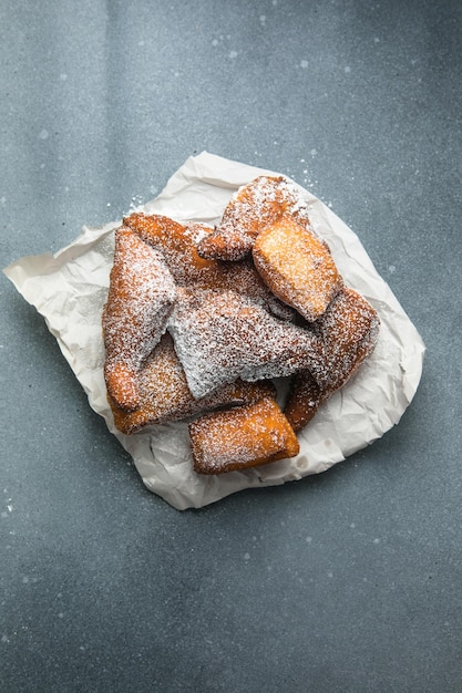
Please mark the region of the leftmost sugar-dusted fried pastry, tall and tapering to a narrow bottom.
POLYGON ((102 327, 106 387, 122 410, 141 404, 140 369, 165 332, 175 297, 175 282, 162 256, 131 229, 117 229, 102 327))

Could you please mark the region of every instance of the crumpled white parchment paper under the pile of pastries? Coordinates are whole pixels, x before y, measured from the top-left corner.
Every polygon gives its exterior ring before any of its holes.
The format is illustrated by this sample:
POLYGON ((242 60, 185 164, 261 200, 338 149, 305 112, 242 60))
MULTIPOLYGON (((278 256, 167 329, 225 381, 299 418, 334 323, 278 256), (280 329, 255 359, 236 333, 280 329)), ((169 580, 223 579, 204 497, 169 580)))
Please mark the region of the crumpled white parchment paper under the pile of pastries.
MULTIPOLYGON (((261 174, 275 172, 204 152, 189 157, 162 194, 140 210, 214 225, 233 193, 261 174)), ((103 379, 101 311, 107 294, 114 229, 120 221, 84 227, 74 242, 55 255, 25 257, 3 270, 44 317, 90 405, 130 453, 146 487, 177 509, 199 508, 244 488, 325 472, 398 424, 417 391, 424 354, 419 333, 358 237, 319 199, 299 189, 345 282, 378 310, 381 331, 371 358, 299 434, 300 454, 292 459, 201 476, 193 470, 186 423, 152 426, 133 436, 114 427, 103 379)))

